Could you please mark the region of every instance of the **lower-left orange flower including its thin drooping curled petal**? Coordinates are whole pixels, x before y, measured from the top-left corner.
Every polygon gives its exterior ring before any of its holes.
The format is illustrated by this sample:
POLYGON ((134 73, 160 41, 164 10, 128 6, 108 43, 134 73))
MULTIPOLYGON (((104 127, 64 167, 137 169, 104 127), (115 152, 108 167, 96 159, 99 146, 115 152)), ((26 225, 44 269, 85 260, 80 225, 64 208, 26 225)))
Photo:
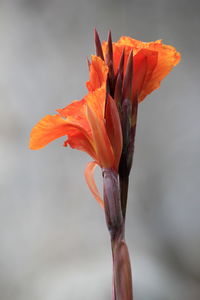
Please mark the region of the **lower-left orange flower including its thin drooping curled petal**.
POLYGON ((119 113, 105 82, 108 69, 98 57, 92 58, 92 78, 89 92, 82 100, 73 101, 58 114, 47 115, 31 131, 30 149, 45 147, 53 140, 67 136, 64 146, 87 152, 94 162, 85 171, 87 183, 98 202, 103 205, 93 179, 96 164, 117 172, 122 151, 119 113), (96 89, 93 91, 92 86, 96 89))

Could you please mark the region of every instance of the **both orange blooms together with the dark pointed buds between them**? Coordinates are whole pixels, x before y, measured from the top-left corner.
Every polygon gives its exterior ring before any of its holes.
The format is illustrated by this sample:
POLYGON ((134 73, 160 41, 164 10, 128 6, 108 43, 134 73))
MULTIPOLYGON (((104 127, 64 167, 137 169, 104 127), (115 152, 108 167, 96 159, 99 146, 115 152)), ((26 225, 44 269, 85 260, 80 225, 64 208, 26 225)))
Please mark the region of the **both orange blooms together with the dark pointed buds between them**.
POLYGON ((86 168, 86 180, 103 207, 93 178, 95 166, 113 170, 122 179, 129 175, 138 103, 159 87, 180 54, 161 40, 144 43, 124 36, 113 43, 111 33, 101 43, 96 30, 95 45, 96 55, 88 61, 88 93, 41 119, 31 131, 30 148, 67 136, 64 146, 87 152, 93 161, 86 168))

